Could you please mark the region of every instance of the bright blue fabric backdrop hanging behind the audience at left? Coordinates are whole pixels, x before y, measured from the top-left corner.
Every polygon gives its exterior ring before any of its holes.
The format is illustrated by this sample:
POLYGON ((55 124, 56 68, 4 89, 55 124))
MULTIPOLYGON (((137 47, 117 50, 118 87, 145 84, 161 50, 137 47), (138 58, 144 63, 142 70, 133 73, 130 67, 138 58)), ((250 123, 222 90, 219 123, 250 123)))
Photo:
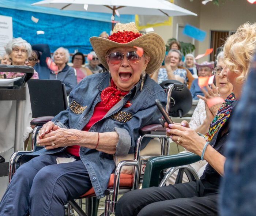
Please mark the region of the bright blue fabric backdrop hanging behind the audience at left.
MULTIPOLYGON (((89 53, 92 50, 89 38, 98 36, 102 31, 110 33, 112 27, 110 22, 3 7, 0 7, 0 15, 12 16, 13 37, 22 37, 30 44, 48 43, 51 52, 63 46, 71 53, 75 49, 82 53, 89 53), (31 20, 31 15, 39 18, 38 23, 31 20), (37 35, 38 30, 45 31, 45 34, 37 35)), ((98 16, 100 15, 101 13, 98 13, 98 16)), ((132 22, 132 18, 134 16, 127 17, 125 22, 132 22)))

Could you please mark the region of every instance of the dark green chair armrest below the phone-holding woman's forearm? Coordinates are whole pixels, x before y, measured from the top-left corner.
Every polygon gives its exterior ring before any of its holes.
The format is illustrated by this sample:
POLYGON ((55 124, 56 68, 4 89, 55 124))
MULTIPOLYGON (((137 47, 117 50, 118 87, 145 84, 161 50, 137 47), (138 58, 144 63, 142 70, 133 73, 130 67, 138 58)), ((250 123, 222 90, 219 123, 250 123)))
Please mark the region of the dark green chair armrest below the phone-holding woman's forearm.
POLYGON ((200 159, 200 156, 191 152, 150 158, 147 161, 142 188, 158 186, 159 174, 162 170, 170 167, 195 163, 200 159))

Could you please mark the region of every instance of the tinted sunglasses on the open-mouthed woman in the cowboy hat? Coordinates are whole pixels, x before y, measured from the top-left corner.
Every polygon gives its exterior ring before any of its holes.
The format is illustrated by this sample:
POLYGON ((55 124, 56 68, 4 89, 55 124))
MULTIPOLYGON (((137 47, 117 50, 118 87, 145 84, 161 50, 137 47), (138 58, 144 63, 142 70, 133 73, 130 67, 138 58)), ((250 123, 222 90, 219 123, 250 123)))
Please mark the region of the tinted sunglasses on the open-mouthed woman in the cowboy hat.
POLYGON ((121 52, 113 52, 108 55, 110 64, 119 64, 123 60, 124 55, 126 56, 127 60, 132 64, 138 64, 141 60, 141 56, 138 56, 137 51, 130 51, 126 54, 123 54, 121 52))

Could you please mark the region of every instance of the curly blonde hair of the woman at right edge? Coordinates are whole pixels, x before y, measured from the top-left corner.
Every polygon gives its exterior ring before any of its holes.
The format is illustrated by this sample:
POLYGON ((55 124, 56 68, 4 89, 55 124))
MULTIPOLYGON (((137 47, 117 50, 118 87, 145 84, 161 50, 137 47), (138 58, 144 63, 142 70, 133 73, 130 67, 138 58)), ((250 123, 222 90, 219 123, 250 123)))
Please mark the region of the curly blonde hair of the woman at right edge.
POLYGON ((236 82, 245 82, 256 48, 256 23, 244 23, 225 42, 224 63, 237 73, 236 82))

